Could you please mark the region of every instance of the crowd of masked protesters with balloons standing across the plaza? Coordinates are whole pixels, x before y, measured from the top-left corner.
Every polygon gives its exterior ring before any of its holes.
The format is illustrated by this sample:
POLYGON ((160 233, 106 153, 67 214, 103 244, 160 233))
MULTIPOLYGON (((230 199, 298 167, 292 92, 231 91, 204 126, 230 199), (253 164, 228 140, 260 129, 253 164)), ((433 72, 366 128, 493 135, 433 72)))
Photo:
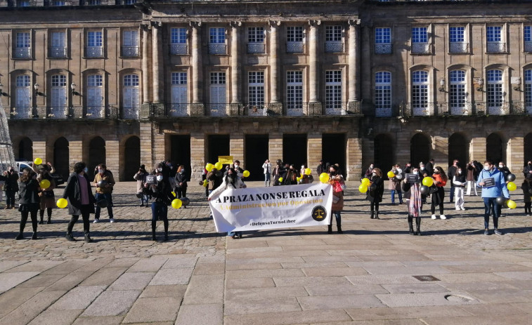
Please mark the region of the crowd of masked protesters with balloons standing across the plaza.
MULTIPOLYGON (((297 168, 294 164, 283 163, 280 159, 275 161, 272 167, 269 159, 262 165, 264 169, 264 186, 282 186, 308 184, 313 182, 313 175, 309 173, 306 165, 297 168)), ((112 172, 105 164, 99 164, 94 170, 94 178, 89 180, 88 168, 83 162, 74 164, 74 171, 70 174, 65 190, 61 197, 68 201, 68 212, 71 215, 67 225, 66 239, 75 241, 72 236, 74 224, 82 216, 84 240, 91 242, 89 215, 94 214, 93 223, 100 222, 102 208, 107 208, 110 223, 115 222, 112 211, 112 190, 115 185, 112 172), (96 195, 93 195, 91 185, 96 187, 96 195)), ((0 175, 0 182, 3 183, 6 192, 6 209, 15 208, 15 194, 19 193, 18 210, 20 211, 20 231, 15 239, 24 239, 24 230, 27 218, 32 222, 32 239, 37 239, 37 225, 44 224, 44 213, 47 215, 46 223, 51 223, 53 208, 56 206, 56 196, 51 173, 55 169, 50 163, 32 164, 32 168, 25 168, 22 174, 18 175, 14 168, 9 168, 0 175), (44 186, 43 184, 46 184, 44 186), (40 221, 37 219, 40 215, 40 221)), ((210 171, 204 169, 200 185, 205 186, 205 196, 210 200, 219 195, 227 188, 245 188, 243 181, 244 169, 240 166, 240 161, 233 161, 233 165, 223 165, 223 168, 213 167, 210 171)), ((341 211, 344 207, 345 182, 342 171, 338 164, 329 164, 320 161, 316 168, 316 173, 327 173, 329 182, 333 185, 332 215, 335 216, 337 232, 342 233, 341 211)), ((498 218, 504 202, 500 197, 510 199, 510 192, 507 183, 512 173, 500 161, 495 166, 492 161, 486 160, 484 164, 478 161, 469 161, 462 167, 460 161, 455 159, 453 165, 448 167, 447 173, 443 168, 436 166, 434 159, 430 159, 427 164, 420 162, 413 166, 408 162, 404 167, 399 164, 391 166, 389 172, 384 174, 382 169, 370 164, 365 171, 363 178, 368 178, 369 185, 366 199, 370 202, 370 218, 379 219, 379 204, 383 201, 384 182, 388 176, 388 189, 390 191, 391 205, 396 205, 395 194, 398 195, 398 204, 406 204, 408 211, 408 227, 410 234, 420 235, 421 215, 427 198, 430 198, 431 218, 445 220, 447 216, 444 211, 445 190, 444 187, 450 183, 449 202, 454 203, 456 210, 465 210, 465 197, 476 195, 478 189, 482 189, 481 197, 484 201, 484 234, 490 234, 489 221, 493 215, 493 233, 502 234, 498 227, 498 218), (424 192, 422 180, 432 178, 432 186, 428 192, 424 192), (436 208, 439 215, 436 215, 436 208), (413 223, 415 220, 416 229, 413 223)), ((524 200, 525 215, 532 215, 532 161, 523 170, 524 182, 521 184, 524 200)), ((157 220, 164 223, 164 240, 168 239, 168 206, 175 199, 182 199, 188 202, 186 192, 188 187, 188 173, 183 165, 174 166, 170 161, 162 161, 147 171, 145 165, 141 165, 138 172, 133 176, 137 182, 136 197, 140 199, 140 206, 150 206, 152 211, 152 239, 157 240, 155 230, 157 220), (151 204, 149 203, 151 201, 151 204)), ((0 191, 1 193, 1 191, 0 191)), ((186 206, 186 204, 183 204, 186 206)), ((327 232, 332 233, 332 218, 327 227, 327 232)), ((229 232, 228 236, 241 238, 242 232, 229 232)))

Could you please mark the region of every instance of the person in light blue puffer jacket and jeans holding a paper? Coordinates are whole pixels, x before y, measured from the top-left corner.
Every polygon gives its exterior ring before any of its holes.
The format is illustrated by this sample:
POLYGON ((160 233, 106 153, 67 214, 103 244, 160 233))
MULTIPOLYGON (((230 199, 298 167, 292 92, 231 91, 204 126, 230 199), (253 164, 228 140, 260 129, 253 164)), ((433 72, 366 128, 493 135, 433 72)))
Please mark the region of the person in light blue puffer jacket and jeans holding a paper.
POLYGON ((484 234, 489 234, 490 212, 493 211, 493 232, 502 234, 498 229, 500 205, 497 197, 504 195, 510 199, 510 192, 506 187, 506 178, 497 168, 494 168, 491 160, 484 161, 484 169, 479 174, 478 184, 482 187, 482 199, 484 199, 484 234))

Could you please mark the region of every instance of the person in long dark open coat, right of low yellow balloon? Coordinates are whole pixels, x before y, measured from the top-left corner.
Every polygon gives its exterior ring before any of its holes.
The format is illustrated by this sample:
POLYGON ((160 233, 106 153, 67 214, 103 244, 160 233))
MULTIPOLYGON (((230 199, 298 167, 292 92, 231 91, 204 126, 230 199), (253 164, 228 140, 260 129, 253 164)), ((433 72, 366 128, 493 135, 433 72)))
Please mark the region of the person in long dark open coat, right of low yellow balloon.
POLYGON ((92 194, 91 181, 89 176, 86 175, 87 171, 88 169, 84 162, 77 162, 74 165, 74 173, 68 176, 67 185, 63 192, 63 199, 68 200, 68 213, 72 215, 67 225, 67 234, 65 236, 68 241, 76 241, 72 236, 72 228, 74 228, 74 224, 79 219, 79 215, 82 215, 85 242, 92 242, 89 232, 89 214, 94 213, 96 198, 92 194))

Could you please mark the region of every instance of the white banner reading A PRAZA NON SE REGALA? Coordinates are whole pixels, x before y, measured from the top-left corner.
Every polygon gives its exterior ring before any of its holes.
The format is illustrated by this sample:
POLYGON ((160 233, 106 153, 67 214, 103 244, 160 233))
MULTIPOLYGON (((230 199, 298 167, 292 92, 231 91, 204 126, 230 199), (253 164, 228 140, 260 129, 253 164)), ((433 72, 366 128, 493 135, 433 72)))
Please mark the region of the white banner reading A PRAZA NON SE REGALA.
POLYGON ((217 232, 329 225, 332 186, 228 188, 209 204, 217 232))

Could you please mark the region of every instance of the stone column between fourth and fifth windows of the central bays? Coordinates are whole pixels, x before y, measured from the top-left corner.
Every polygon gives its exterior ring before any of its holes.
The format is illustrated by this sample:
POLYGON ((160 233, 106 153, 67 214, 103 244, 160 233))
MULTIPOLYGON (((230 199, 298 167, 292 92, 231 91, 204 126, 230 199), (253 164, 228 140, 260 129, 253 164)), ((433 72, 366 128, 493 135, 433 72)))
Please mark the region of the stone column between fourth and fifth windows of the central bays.
POLYGON ((318 26, 321 20, 309 20, 311 30, 309 33, 309 107, 307 114, 321 115, 319 102, 320 72, 318 69, 318 26))

